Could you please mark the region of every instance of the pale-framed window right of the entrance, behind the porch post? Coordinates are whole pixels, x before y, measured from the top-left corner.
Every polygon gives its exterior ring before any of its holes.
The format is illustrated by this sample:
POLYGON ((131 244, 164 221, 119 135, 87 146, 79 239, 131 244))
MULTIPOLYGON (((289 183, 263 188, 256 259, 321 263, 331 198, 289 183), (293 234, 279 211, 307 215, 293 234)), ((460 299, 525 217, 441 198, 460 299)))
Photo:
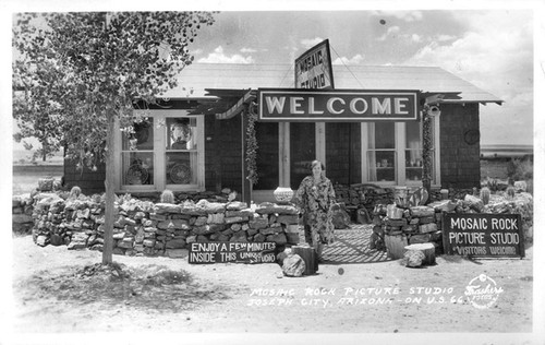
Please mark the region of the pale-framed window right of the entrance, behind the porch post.
MULTIPOLYGON (((363 152, 364 182, 378 185, 411 186, 422 183, 422 123, 407 122, 370 122, 362 123, 362 135, 365 135, 363 152)), ((438 183, 436 157, 438 138, 438 120, 432 120, 432 185, 438 183)))

